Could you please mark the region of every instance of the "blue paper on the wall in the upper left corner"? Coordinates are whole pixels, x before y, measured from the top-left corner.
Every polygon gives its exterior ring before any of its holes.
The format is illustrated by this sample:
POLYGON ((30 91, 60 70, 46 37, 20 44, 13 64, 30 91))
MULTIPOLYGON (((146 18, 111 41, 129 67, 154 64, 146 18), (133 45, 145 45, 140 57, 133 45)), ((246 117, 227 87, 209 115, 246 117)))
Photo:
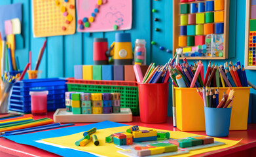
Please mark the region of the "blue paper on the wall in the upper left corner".
POLYGON ((0 6, 0 32, 2 39, 5 38, 5 20, 18 18, 22 23, 22 3, 0 6))

